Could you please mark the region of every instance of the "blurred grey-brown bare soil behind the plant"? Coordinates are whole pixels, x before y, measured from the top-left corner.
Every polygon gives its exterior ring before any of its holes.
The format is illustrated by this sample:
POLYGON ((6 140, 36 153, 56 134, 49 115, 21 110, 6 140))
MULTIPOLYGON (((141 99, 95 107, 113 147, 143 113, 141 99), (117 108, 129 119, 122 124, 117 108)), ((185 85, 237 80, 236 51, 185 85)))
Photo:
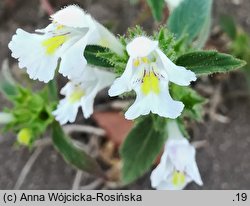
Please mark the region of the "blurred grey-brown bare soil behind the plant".
MULTIPOLYGON (((0 1, 0 65, 7 58, 10 65, 13 65, 15 76, 22 74, 15 66, 16 61, 10 57, 8 42, 18 27, 31 32, 49 23, 48 13, 51 12, 51 8, 41 6, 40 2, 42 1, 0 1)), ((55 11, 72 3, 80 5, 117 34, 124 34, 129 26, 137 23, 148 32, 155 26, 147 7, 142 4, 131 5, 128 0, 51 1, 55 11)), ((214 0, 213 12, 214 25, 208 48, 226 51, 228 39, 218 27, 221 14, 233 15, 239 25, 250 32, 249 0, 214 0)), ((211 101, 206 106, 207 115, 204 123, 191 125, 190 130, 193 141, 207 141, 197 150, 197 162, 204 186, 190 184, 187 189, 250 189, 250 91, 247 89, 244 74, 238 71, 214 75, 201 79, 196 87, 211 101)), ((105 95, 104 91, 96 102, 102 102, 105 95)), ((6 104, 4 98, 0 97, 0 109, 6 104)), ((79 120, 81 124, 93 122, 79 120)), ((14 146, 15 138, 14 134, 0 134, 0 189, 13 189, 15 186, 17 188, 20 172, 28 160, 32 161, 31 154, 34 157, 33 151, 17 149, 14 146)), ((67 165, 52 146, 46 146, 36 152, 37 159, 19 188, 103 188, 98 180, 67 165), (80 183, 76 187, 77 181, 80 183)), ((150 189, 149 174, 126 189, 150 189)))

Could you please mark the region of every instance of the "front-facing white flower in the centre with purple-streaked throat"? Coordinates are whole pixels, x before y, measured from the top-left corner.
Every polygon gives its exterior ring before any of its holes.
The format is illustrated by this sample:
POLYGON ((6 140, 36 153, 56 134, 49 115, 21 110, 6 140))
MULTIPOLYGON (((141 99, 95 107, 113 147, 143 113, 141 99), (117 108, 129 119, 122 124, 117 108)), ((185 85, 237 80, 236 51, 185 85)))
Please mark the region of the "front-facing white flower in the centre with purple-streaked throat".
POLYGON ((130 56, 122 76, 115 80, 109 90, 110 96, 135 90, 134 104, 125 113, 127 119, 152 113, 162 117, 178 117, 184 105, 174 101, 170 94, 169 81, 187 86, 196 80, 192 71, 176 66, 159 49, 158 41, 137 37, 127 45, 130 56))

